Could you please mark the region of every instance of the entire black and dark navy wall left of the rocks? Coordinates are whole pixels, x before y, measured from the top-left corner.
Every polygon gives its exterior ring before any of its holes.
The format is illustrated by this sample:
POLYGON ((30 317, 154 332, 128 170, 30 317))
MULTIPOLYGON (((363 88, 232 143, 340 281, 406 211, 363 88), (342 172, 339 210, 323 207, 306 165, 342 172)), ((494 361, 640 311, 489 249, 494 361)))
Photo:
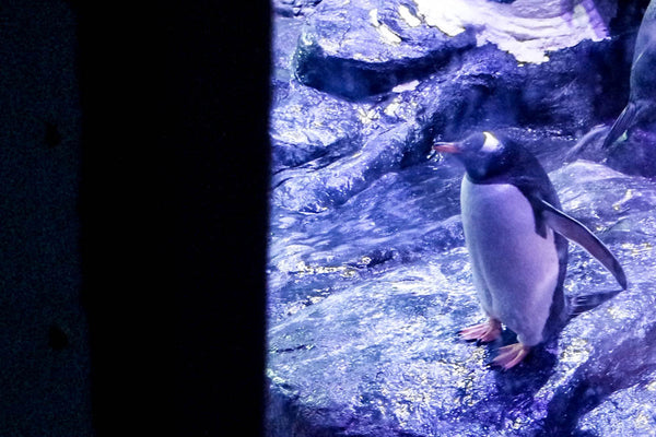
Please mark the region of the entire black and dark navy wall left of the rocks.
POLYGON ((258 435, 268 2, 5 3, 0 436, 258 435))

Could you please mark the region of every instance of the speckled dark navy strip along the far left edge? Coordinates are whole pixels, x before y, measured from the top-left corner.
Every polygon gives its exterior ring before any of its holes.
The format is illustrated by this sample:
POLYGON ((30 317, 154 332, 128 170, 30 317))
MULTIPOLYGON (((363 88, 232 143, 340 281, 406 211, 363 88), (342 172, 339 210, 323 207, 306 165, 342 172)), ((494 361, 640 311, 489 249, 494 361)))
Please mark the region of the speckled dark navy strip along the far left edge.
POLYGON ((3 2, 0 28, 0 435, 90 435, 75 16, 3 2))

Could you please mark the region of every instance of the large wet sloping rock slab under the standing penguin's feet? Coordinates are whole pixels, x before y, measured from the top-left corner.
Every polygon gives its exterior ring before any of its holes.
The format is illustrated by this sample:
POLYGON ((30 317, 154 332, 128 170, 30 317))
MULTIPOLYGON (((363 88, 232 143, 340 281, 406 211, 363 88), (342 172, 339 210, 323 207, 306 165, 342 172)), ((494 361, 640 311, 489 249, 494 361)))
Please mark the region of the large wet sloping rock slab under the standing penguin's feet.
MULTIPOLYGON (((656 288, 645 275, 645 271, 656 272, 651 245, 656 222, 645 221, 642 212, 656 203, 653 182, 585 162, 551 174, 563 208, 596 229, 617 253, 630 288, 575 317, 557 341, 503 373, 487 367, 500 344, 476 346, 455 335, 459 328, 481 320, 461 234, 456 233, 452 246, 440 244, 454 224, 459 226, 459 217, 448 208, 425 220, 411 211, 424 202, 425 211, 432 210, 429 205, 437 202, 431 191, 440 179, 438 198, 453 201, 457 196, 460 174, 450 173, 449 163, 435 165, 438 169, 431 172, 445 172, 436 180, 411 167, 409 174, 401 172, 389 181, 399 190, 393 196, 397 209, 383 210, 377 218, 384 226, 386 218, 407 212, 413 218, 406 223, 403 237, 386 238, 372 227, 368 238, 353 232, 349 239, 349 227, 343 227, 349 222, 342 224, 341 236, 330 228, 337 224, 321 221, 323 233, 319 222, 314 224, 314 235, 336 238, 332 244, 341 247, 341 255, 331 260, 333 269, 347 268, 345 260, 376 248, 391 247, 406 255, 390 258, 387 269, 367 271, 361 264, 316 303, 283 315, 271 326, 270 435, 569 435, 582 416, 618 388, 648 378, 656 369, 656 288), (403 186, 403 176, 414 182, 423 178, 423 184, 403 186), (444 184, 448 180, 453 182, 444 184), (442 231, 441 237, 432 241, 410 237, 412 232, 423 234, 429 223, 442 231), (634 226, 641 226, 641 232, 629 231, 634 226)), ((384 202, 373 196, 367 199, 378 205, 384 202)), ((378 211, 358 203, 341 208, 345 217, 362 214, 360 223, 378 211)), ((313 260, 313 245, 307 246, 300 258, 314 265, 306 274, 319 288, 325 274, 319 267, 329 259, 330 244, 319 246, 324 255, 315 253, 313 260)), ((276 263, 283 265, 285 252, 276 250, 276 263)), ((617 288, 582 249, 572 246, 571 253, 569 295, 617 288)), ((324 285, 335 284, 325 279, 324 285)), ((284 286, 272 291, 277 305, 284 293, 284 286)))

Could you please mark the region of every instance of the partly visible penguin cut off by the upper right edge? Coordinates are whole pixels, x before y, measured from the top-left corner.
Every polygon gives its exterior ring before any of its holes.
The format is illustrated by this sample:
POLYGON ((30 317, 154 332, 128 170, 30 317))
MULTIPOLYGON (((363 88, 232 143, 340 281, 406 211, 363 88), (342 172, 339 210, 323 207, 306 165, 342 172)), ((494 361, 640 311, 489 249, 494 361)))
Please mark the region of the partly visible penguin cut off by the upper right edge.
POLYGON ((629 128, 653 121, 656 101, 656 1, 651 1, 637 31, 631 63, 629 103, 614 121, 602 149, 612 145, 629 128))

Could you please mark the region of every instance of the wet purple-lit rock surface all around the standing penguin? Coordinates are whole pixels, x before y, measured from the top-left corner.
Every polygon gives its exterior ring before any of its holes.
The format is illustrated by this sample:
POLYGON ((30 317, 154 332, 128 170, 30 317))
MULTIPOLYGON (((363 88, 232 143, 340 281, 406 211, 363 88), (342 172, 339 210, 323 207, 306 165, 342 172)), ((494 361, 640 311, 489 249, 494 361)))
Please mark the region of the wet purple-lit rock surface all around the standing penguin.
MULTIPOLYGON (((656 375, 656 185, 565 163, 578 138, 622 108, 609 96, 626 92, 617 60, 640 11, 560 2, 588 19, 596 8, 612 37, 520 64, 483 42, 481 26, 452 37, 429 25, 421 3, 277 9, 268 435, 644 435, 653 421, 641 405, 656 375), (536 153, 564 210, 610 247, 630 282, 618 294, 571 245, 566 294, 604 302, 507 373, 487 364, 512 333, 489 346, 456 336, 482 318, 458 215, 462 169, 426 160, 433 141, 483 129, 536 153)), ((507 11, 529 1, 462 3, 507 11)))

